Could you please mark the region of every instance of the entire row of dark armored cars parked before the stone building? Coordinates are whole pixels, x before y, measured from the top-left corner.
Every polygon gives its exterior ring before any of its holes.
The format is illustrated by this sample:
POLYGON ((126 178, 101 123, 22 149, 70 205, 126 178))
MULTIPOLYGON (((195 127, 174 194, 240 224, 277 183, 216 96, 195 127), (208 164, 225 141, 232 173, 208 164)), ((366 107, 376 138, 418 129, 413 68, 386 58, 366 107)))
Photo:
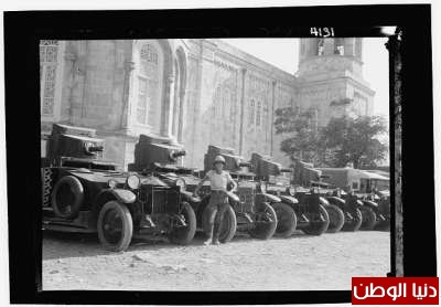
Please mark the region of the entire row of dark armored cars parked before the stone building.
POLYGON ((104 141, 94 129, 54 124, 42 158, 43 229, 97 233, 106 250, 123 251, 137 235, 168 236, 189 244, 207 232, 209 183, 193 191, 215 156, 222 155, 238 188, 220 226, 220 242, 237 233, 267 240, 295 230, 324 232, 387 229, 388 200, 333 195, 292 187, 290 169, 271 157, 252 154, 244 161, 234 150, 208 146, 204 171, 180 166, 184 149, 170 139, 141 135, 128 171, 103 159, 104 141))

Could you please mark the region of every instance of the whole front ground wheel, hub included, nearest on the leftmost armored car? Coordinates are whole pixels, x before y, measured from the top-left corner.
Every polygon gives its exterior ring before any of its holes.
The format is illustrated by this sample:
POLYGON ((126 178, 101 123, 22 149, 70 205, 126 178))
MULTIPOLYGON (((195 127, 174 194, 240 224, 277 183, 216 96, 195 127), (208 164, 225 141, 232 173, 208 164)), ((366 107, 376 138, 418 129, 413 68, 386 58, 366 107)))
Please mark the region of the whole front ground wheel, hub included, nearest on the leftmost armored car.
POLYGON ((106 250, 127 250, 133 234, 133 221, 129 209, 118 201, 107 202, 99 211, 97 229, 99 241, 106 250))

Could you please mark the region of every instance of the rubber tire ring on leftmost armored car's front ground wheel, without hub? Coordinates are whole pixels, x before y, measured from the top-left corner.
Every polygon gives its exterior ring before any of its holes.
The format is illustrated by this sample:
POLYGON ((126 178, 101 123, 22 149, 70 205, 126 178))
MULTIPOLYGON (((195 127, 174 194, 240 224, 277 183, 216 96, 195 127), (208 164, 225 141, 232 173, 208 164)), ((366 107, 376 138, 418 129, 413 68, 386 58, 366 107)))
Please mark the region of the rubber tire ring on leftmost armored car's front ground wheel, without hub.
POLYGON ((127 247, 129 247, 131 237, 133 235, 133 221, 132 221, 129 209, 126 205, 123 205, 115 200, 106 202, 105 205, 103 205, 103 208, 98 214, 97 230, 98 230, 98 239, 101 242, 104 248, 111 251, 111 252, 126 251, 127 247), (122 237, 119 240, 119 242, 117 244, 111 244, 111 243, 107 242, 105 234, 104 234, 104 230, 103 230, 103 222, 104 222, 103 220, 109 210, 117 210, 122 220, 123 233, 122 233, 122 237))

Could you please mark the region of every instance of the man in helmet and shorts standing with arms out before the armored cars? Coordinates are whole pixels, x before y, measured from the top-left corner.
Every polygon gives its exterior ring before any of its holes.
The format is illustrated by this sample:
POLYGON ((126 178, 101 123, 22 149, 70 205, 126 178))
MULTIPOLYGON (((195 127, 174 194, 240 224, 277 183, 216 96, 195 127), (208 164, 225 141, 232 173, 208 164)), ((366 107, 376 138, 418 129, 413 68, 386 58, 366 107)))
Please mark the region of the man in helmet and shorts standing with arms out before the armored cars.
POLYGON ((209 202, 205 210, 209 212, 209 231, 208 239, 204 242, 205 245, 213 243, 214 245, 220 244, 219 232, 220 225, 224 219, 224 213, 228 209, 228 195, 227 195, 227 184, 233 184, 233 191, 236 190, 237 184, 233 180, 229 172, 224 170, 225 159, 222 156, 217 156, 214 159, 214 169, 207 171, 205 177, 197 184, 194 190, 194 195, 197 195, 202 184, 209 180, 211 184, 211 195, 209 202))

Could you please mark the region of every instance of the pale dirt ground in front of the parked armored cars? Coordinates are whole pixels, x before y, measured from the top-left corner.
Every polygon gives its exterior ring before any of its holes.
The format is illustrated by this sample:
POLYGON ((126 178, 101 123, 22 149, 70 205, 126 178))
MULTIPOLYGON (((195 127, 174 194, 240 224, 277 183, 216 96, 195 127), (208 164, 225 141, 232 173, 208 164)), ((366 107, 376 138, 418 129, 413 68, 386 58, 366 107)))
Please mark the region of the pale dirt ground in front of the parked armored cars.
POLYGON ((349 290, 352 276, 386 276, 388 232, 334 233, 189 246, 133 240, 104 251, 95 235, 43 235, 43 289, 349 290))

